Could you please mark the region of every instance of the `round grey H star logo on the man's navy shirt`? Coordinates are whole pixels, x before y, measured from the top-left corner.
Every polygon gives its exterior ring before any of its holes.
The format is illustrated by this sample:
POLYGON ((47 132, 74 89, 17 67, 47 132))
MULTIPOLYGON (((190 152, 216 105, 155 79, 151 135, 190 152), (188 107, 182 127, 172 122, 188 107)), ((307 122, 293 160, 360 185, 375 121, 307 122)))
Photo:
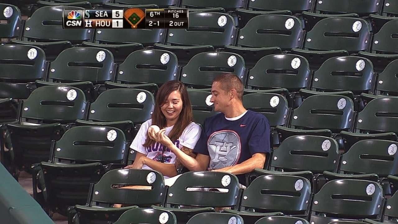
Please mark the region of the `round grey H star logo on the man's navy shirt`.
POLYGON ((210 155, 209 169, 220 169, 238 163, 242 145, 239 135, 232 130, 221 130, 210 135, 207 141, 210 155))

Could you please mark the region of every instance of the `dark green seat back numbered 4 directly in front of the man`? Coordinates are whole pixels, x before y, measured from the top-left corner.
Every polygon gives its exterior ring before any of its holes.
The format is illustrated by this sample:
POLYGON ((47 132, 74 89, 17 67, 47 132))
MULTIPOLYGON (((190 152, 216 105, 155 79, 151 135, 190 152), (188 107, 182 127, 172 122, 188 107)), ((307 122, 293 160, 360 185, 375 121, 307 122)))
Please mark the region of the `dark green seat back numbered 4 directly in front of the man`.
POLYGON ((238 178, 230 173, 191 171, 178 177, 168 189, 167 206, 234 207, 239 194, 238 178))

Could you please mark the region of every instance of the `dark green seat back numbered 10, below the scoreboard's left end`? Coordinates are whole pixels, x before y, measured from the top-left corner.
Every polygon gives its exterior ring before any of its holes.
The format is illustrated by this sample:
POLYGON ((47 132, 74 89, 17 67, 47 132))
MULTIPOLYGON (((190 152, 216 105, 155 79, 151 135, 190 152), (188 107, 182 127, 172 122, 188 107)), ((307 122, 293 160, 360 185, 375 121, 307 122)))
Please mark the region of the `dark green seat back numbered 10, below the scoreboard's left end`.
POLYGON ((49 80, 53 82, 91 81, 94 84, 113 81, 112 53, 98 47, 72 47, 62 51, 51 62, 49 80))

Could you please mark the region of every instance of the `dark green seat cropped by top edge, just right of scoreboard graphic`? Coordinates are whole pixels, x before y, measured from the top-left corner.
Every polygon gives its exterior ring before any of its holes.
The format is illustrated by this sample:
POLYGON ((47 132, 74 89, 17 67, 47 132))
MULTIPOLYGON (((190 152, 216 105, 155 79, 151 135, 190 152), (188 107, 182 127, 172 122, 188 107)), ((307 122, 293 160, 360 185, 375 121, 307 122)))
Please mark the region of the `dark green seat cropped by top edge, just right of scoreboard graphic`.
POLYGON ((237 8, 246 8, 248 0, 181 0, 183 8, 217 8, 222 7, 226 11, 235 11, 237 8))

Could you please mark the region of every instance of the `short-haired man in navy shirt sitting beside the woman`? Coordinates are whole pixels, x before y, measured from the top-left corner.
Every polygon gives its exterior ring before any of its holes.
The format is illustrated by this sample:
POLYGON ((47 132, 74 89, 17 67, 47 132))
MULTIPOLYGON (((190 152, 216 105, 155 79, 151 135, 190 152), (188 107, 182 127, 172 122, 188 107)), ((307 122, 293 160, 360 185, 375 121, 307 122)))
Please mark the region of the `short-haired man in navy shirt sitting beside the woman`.
POLYGON ((269 122, 262 114, 244 108, 243 84, 236 75, 216 77, 211 93, 210 101, 221 113, 205 120, 193 150, 174 153, 191 171, 229 172, 245 185, 244 174, 262 169, 269 153, 269 122), (193 152, 197 153, 196 157, 193 152))

